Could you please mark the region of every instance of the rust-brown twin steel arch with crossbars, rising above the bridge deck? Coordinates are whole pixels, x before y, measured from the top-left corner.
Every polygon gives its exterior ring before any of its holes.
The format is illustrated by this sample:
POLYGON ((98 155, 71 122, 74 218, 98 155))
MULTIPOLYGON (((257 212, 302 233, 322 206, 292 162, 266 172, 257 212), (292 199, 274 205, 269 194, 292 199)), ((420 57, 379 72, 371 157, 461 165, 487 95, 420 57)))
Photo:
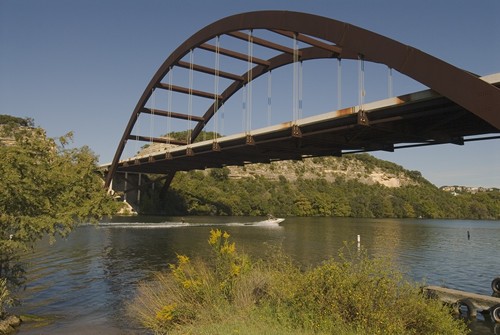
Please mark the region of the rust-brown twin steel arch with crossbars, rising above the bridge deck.
MULTIPOLYGON (((235 59, 244 59, 244 55, 231 50, 221 49, 219 52, 235 59)), ((185 114, 173 113, 172 111, 155 111, 158 115, 196 121, 197 125, 191 135, 191 141, 193 141, 218 108, 246 83, 273 69, 294 62, 296 60, 294 58, 297 56, 301 61, 319 58, 362 58, 365 61, 385 64, 430 87, 437 93, 462 106, 497 129, 500 129, 500 89, 480 80, 467 71, 459 69, 416 48, 366 29, 318 15, 290 11, 242 13, 223 18, 199 30, 175 49, 160 66, 145 88, 130 117, 106 176, 106 186, 109 186, 111 183, 128 139, 147 139, 165 142, 165 139, 153 139, 142 136, 134 137, 131 135, 139 114, 151 113, 151 110, 146 108, 145 105, 155 89, 167 89, 204 96, 205 98, 212 96, 214 103, 202 117, 192 117, 185 114), (243 32, 256 29, 269 30, 289 38, 296 38, 309 46, 294 51, 268 40, 249 37, 248 34, 243 32), (252 58, 251 62, 255 66, 249 72, 241 75, 218 72, 219 76, 232 80, 232 83, 225 88, 223 93, 217 96, 207 92, 193 91, 192 89, 173 87, 162 83, 162 80, 174 67, 191 68, 194 71, 216 75, 215 69, 188 64, 182 61, 182 59, 190 50, 197 48, 215 52, 214 46, 207 42, 222 35, 239 39, 251 39, 253 43, 278 51, 279 54, 267 60, 252 58)), ((169 143, 185 144, 175 141, 169 143)))

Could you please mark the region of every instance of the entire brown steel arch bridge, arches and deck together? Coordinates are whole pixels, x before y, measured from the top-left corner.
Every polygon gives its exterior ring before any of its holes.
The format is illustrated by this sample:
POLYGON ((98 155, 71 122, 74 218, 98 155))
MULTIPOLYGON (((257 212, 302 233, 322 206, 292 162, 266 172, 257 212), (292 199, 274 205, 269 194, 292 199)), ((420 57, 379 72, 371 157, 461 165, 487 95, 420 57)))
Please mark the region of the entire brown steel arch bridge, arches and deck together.
POLYGON ((500 89, 497 86, 498 81, 483 80, 416 48, 345 22, 290 11, 233 15, 196 32, 159 67, 137 102, 113 161, 107 166, 105 184, 107 187, 111 184, 116 172, 161 173, 167 175, 168 187, 175 172, 180 170, 269 162, 274 159, 301 159, 304 156, 341 155, 346 149, 394 150, 394 145, 401 143, 463 144, 464 136, 500 132, 500 89), (294 43, 300 41, 306 46, 290 48, 270 38, 254 36, 254 30, 265 30, 271 35, 293 40, 294 43), (226 35, 273 50, 274 54, 269 58, 260 58, 250 52, 244 54, 209 43, 226 35), (183 60, 195 49, 245 61, 251 66, 245 73, 230 73, 183 60), (353 107, 348 111, 325 115, 320 120, 316 118, 302 123, 293 120, 286 126, 281 125, 272 130, 273 134, 247 133, 243 140, 229 139, 225 142, 221 138, 220 141, 214 140, 213 143, 194 148, 192 144, 221 106, 253 80, 285 65, 325 58, 385 64, 430 90, 425 91, 423 99, 419 100, 408 95, 399 97, 395 103, 373 105, 371 109, 370 106, 353 107), (229 84, 222 93, 195 90, 191 85, 174 85, 168 79, 174 68, 225 78, 229 84), (155 90, 203 97, 212 103, 198 115, 147 107, 155 90), (134 135, 134 126, 142 114, 189 120, 195 122, 196 126, 188 129, 190 136, 185 142, 166 137, 134 135), (149 157, 120 161, 128 140, 163 143, 173 149, 149 157), (262 147, 256 149, 259 143, 262 147))

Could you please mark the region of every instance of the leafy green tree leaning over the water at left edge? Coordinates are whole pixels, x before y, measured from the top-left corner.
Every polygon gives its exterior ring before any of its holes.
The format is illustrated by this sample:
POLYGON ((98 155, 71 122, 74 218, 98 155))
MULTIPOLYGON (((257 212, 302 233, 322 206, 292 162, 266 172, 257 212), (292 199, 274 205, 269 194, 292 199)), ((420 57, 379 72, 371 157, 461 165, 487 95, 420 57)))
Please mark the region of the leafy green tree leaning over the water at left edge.
POLYGON ((19 256, 36 241, 113 214, 118 204, 104 190, 91 150, 66 148, 71 133, 56 141, 20 124, 0 135, 12 139, 0 142, 0 279, 15 288, 24 273, 19 256))

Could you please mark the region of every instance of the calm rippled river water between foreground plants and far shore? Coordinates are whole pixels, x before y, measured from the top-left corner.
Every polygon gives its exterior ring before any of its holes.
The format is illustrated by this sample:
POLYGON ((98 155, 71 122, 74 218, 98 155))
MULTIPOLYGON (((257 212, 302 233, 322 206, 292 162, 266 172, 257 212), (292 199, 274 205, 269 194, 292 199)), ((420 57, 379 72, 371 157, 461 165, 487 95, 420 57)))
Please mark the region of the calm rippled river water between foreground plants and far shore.
MULTIPOLYGON (((29 261, 29 284, 19 313, 52 318, 46 327, 18 334, 144 334, 125 315, 136 285, 168 268, 176 253, 209 251, 210 229, 228 231, 240 250, 264 256, 281 246, 296 261, 314 265, 336 256, 344 242, 375 256, 390 256, 411 278, 429 285, 491 294, 500 275, 500 222, 287 218, 279 227, 252 226, 260 218, 114 218, 78 228, 50 245, 43 241, 29 261), (470 239, 467 232, 470 232, 470 239)), ((473 334, 495 334, 479 316, 473 334)), ((500 327, 497 332, 500 334, 500 327)))

